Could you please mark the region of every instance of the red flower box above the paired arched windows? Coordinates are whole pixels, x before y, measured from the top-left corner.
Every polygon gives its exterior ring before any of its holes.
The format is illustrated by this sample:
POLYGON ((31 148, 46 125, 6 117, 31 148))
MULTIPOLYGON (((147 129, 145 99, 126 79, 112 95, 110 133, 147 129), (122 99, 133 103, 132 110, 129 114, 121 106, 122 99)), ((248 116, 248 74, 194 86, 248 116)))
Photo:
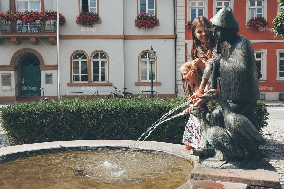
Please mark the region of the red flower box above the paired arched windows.
POLYGON ((93 26, 95 23, 101 23, 99 22, 100 20, 101 18, 97 12, 85 11, 77 15, 76 23, 85 26, 93 26))

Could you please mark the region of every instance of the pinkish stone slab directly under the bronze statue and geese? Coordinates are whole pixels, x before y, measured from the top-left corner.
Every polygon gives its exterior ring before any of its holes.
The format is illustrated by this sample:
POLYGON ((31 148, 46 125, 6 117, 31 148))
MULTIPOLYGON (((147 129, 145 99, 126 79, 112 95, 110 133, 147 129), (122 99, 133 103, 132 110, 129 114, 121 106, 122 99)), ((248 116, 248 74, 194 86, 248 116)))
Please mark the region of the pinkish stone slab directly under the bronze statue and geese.
POLYGON ((182 151, 181 155, 186 159, 191 159, 191 163, 194 165, 194 169, 191 171, 191 179, 226 181, 267 188, 280 188, 277 171, 265 160, 263 160, 261 169, 217 169, 200 164, 197 157, 190 155, 187 151, 182 151))

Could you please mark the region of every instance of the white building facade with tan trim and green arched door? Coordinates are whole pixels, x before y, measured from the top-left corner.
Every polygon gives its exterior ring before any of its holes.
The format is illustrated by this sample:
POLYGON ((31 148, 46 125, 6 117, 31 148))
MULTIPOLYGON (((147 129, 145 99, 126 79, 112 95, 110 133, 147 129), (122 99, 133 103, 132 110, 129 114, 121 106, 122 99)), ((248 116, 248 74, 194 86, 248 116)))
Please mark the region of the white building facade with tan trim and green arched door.
MULTIPOLYGON (((176 54, 174 1, 62 0, 58 6, 67 20, 59 27, 60 97, 68 92, 84 92, 87 99, 92 99, 97 90, 112 92, 112 86, 120 91, 127 88, 134 96, 142 90, 150 91, 151 64, 145 52, 151 46, 156 51, 154 91, 159 97, 176 97, 176 58, 179 57, 176 54), (101 20, 93 26, 77 24, 76 16, 86 9, 98 12, 101 20), (139 30, 135 19, 143 12, 154 12, 159 24, 151 30, 139 30)), ((4 0, 0 4, 1 12, 26 8, 55 11, 56 1, 4 0)), ((42 99, 43 90, 45 97, 58 99, 57 34, 56 23, 52 24, 53 29, 49 31, 50 24, 41 23, 36 32, 20 32, 18 24, 13 30, 13 24, 3 23, 0 29, 4 38, 4 44, 0 45, 0 74, 2 80, 7 81, 2 82, 0 103, 13 103, 26 96, 42 99)), ((181 27, 179 23, 177 26, 181 27)), ((178 40, 184 42, 184 37, 178 40)), ((185 44, 182 48, 178 51, 185 51, 185 44)), ((185 52, 182 54, 185 59, 185 52)), ((99 95, 107 97, 109 93, 99 95)))

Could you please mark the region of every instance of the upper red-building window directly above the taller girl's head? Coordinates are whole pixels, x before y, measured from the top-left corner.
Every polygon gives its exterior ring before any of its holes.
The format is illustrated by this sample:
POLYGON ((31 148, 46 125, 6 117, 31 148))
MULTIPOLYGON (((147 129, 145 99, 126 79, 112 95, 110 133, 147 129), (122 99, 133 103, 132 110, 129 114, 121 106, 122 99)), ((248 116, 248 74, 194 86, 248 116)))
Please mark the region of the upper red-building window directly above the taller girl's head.
POLYGON ((208 5, 208 0, 204 1, 187 0, 188 21, 199 16, 207 17, 207 5, 208 5))

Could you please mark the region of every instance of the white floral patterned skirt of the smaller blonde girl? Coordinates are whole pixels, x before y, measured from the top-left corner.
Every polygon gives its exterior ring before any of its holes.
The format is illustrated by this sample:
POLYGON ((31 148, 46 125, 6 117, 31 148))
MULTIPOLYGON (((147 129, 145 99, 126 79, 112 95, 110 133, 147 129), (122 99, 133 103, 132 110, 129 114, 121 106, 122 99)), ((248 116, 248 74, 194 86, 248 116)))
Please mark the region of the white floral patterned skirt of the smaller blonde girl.
MULTIPOLYGON (((209 111, 211 111, 213 100, 208 99, 206 101, 206 104, 207 104, 209 111)), ((184 144, 197 148, 200 143, 201 134, 202 134, 202 130, 201 130, 200 123, 198 122, 197 118, 194 115, 190 114, 189 120, 185 126, 182 142, 184 144)))

